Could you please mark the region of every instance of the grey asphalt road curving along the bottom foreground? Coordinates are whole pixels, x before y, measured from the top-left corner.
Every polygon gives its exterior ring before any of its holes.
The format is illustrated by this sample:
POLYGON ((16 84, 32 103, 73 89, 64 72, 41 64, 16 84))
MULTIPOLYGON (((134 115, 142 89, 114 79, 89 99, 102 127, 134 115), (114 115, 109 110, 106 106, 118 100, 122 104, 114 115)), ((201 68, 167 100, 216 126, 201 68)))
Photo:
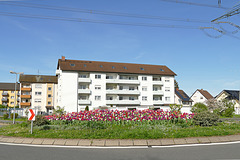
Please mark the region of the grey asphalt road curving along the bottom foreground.
POLYGON ((240 143, 145 149, 42 148, 0 144, 1 160, 240 160, 240 143))

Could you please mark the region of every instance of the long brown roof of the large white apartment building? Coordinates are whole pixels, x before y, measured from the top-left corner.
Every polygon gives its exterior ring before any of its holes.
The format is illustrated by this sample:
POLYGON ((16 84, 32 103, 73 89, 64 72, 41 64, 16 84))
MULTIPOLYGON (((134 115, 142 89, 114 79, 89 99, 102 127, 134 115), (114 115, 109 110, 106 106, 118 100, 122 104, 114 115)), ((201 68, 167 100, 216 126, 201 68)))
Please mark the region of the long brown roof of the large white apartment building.
POLYGON ((108 72, 108 73, 131 73, 131 74, 151 74, 176 76, 167 66, 116 63, 84 60, 68 60, 63 56, 58 60, 57 69, 63 71, 83 71, 83 72, 108 72))

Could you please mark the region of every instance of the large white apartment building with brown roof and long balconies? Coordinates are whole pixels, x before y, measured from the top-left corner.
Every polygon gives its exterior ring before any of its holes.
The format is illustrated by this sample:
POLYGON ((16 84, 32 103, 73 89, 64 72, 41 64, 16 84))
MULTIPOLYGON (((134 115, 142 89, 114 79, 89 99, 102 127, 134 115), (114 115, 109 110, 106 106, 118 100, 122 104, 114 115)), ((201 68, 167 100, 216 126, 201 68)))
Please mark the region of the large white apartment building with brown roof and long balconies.
POLYGON ((162 108, 174 103, 175 73, 166 66, 59 59, 58 105, 67 112, 99 107, 162 108))

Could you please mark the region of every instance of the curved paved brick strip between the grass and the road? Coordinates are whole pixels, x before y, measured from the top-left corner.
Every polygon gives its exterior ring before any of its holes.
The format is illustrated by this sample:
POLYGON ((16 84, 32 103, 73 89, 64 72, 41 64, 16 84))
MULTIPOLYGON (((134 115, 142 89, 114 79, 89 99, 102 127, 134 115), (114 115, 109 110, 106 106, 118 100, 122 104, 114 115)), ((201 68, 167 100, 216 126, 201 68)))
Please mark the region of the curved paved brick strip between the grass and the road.
POLYGON ((2 143, 33 144, 33 145, 60 145, 60 146, 98 146, 98 147, 124 147, 124 146, 169 146, 201 143, 222 143, 240 141, 240 135, 176 138, 176 139, 47 139, 47 138, 21 138, 0 136, 2 143))

